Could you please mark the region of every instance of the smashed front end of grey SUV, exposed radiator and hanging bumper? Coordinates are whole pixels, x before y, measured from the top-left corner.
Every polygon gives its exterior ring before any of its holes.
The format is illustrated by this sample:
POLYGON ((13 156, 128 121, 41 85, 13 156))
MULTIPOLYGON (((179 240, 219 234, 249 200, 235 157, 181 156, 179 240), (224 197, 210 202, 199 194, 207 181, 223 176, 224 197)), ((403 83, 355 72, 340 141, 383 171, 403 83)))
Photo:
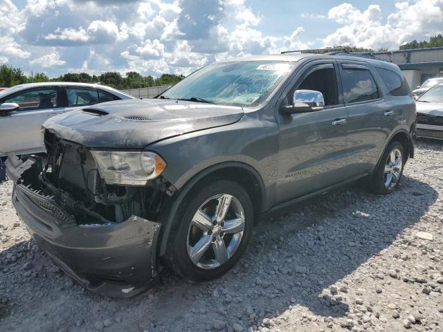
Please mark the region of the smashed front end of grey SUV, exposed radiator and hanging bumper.
POLYGON ((108 185, 91 151, 46 131, 46 156, 10 157, 12 202, 35 241, 90 291, 131 297, 158 281, 167 185, 108 185))

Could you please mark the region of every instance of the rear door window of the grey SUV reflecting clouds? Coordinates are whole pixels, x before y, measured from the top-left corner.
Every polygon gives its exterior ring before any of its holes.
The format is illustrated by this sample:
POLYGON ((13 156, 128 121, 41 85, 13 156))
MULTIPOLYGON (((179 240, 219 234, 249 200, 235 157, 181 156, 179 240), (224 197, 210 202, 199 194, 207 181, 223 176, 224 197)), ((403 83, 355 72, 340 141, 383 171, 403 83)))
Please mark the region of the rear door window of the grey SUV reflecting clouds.
POLYGON ((343 98, 346 103, 364 102, 380 98, 377 83, 368 69, 343 68, 343 98))

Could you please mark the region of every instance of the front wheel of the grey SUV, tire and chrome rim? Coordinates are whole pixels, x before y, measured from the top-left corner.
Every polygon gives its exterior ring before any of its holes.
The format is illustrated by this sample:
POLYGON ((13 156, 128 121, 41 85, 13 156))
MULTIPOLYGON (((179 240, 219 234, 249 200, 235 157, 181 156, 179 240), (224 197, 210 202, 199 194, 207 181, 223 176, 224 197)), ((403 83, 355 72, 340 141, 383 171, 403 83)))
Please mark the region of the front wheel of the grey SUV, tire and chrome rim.
POLYGON ((244 188, 220 180, 183 201, 172 225, 165 259, 195 282, 217 279, 242 257, 253 230, 253 205, 244 188))

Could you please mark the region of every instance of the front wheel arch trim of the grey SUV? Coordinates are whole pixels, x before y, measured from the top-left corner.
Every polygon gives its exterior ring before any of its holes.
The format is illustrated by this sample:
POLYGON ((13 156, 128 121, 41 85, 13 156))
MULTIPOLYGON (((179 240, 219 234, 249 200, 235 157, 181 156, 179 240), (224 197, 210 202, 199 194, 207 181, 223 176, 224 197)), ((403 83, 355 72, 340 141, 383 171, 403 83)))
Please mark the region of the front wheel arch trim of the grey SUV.
POLYGON ((159 256, 165 255, 170 230, 174 223, 181 203, 186 196, 199 185, 206 185, 214 178, 231 180, 242 185, 248 192, 253 203, 254 211, 259 214, 262 211, 265 199, 265 187, 262 177, 251 165, 241 162, 224 162, 212 165, 192 176, 188 182, 170 199, 170 204, 165 208, 165 214, 161 217, 162 234, 159 243, 159 256), (168 212, 167 212, 168 211, 168 212))

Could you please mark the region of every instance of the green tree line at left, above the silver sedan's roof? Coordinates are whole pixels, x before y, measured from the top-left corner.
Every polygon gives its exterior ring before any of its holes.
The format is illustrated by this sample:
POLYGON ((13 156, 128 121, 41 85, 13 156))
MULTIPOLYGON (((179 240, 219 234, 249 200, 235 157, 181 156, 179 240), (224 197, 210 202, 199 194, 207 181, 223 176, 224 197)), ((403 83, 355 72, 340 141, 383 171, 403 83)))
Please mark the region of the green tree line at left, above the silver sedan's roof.
POLYGON ((147 86, 172 85, 185 78, 183 75, 163 74, 160 77, 151 75, 143 76, 135 71, 129 71, 125 76, 116 72, 108 71, 101 75, 89 75, 88 73, 66 73, 56 78, 49 78, 45 73, 30 73, 25 75, 20 68, 14 68, 8 64, 0 65, 0 87, 9 88, 17 84, 35 82, 80 82, 98 83, 111 86, 116 89, 137 89, 147 86))

